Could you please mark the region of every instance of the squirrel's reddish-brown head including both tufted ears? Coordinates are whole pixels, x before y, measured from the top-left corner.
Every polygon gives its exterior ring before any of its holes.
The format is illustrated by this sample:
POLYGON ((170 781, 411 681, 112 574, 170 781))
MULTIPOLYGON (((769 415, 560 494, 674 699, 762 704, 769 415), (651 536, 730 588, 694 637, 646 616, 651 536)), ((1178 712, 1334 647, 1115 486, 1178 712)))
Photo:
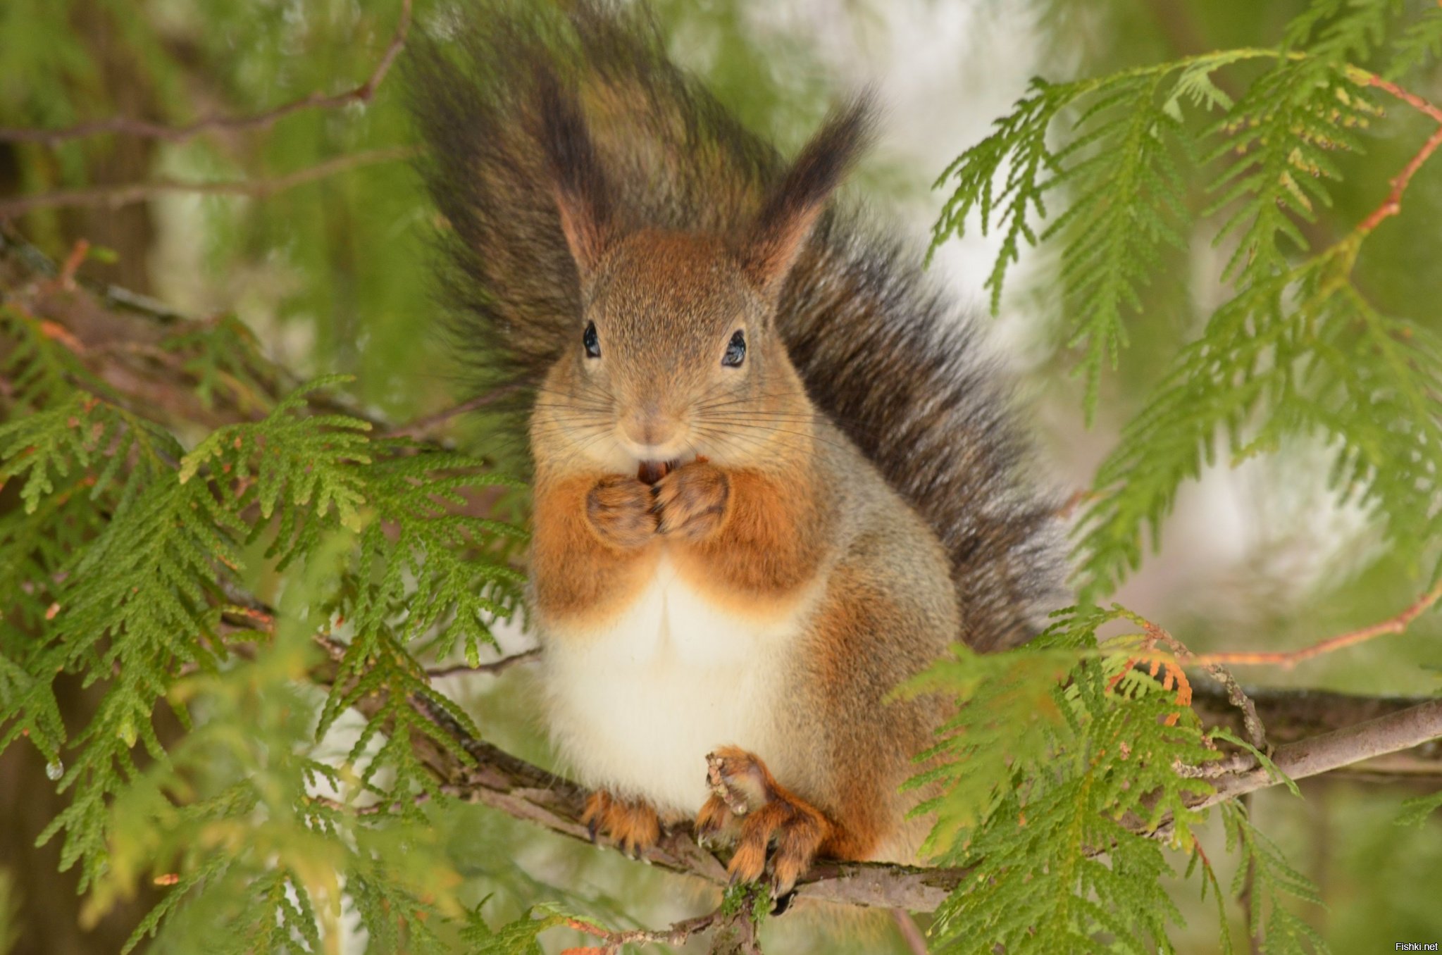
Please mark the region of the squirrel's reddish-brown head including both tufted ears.
POLYGON ((747 463, 809 447, 810 404, 776 312, 867 140, 867 101, 828 120, 744 228, 705 235, 623 225, 578 107, 554 82, 541 92, 538 133, 581 310, 542 390, 534 439, 643 473, 696 456, 747 463))

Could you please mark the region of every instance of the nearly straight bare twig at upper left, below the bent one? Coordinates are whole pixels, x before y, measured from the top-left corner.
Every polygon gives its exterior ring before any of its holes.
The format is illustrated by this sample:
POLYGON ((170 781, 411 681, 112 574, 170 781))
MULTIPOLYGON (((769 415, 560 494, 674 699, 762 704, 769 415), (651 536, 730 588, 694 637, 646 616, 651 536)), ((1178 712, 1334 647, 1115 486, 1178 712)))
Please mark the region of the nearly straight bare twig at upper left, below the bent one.
POLYGON ((297 169, 293 173, 274 179, 242 179, 235 182, 185 182, 177 179, 156 179, 153 182, 131 182, 114 186, 85 186, 82 189, 56 189, 55 192, 40 192, 30 196, 0 201, 0 219, 13 219, 35 209, 56 209, 65 206, 101 206, 117 209, 120 206, 146 202, 156 196, 173 192, 187 192, 206 196, 249 196, 262 199, 277 192, 294 189, 326 176, 356 169, 359 166, 373 166, 376 163, 394 163, 401 159, 418 156, 414 146, 391 146, 373 149, 365 153, 350 153, 327 159, 323 163, 297 169))

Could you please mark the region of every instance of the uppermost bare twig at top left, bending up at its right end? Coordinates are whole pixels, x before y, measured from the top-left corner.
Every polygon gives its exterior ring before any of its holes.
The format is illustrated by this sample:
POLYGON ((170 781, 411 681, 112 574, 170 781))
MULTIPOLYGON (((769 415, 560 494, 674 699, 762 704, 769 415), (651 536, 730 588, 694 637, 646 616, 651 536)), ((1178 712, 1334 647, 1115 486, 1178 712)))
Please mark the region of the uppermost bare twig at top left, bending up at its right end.
POLYGON ((183 143, 189 138, 206 133, 209 130, 228 130, 228 131, 242 131, 242 130, 268 130, 281 120, 293 113, 300 113, 303 110, 337 110, 340 107, 350 105, 353 102, 371 102, 375 98, 375 91, 381 87, 385 75, 391 71, 391 65, 395 62, 397 55, 399 55, 401 48, 405 45, 405 36, 411 29, 411 0, 401 0, 401 17, 397 22, 395 33, 391 36, 389 45, 376 62, 375 69, 363 84, 350 89, 348 92, 327 95, 320 91, 311 92, 310 95, 301 97, 298 100, 291 100, 274 110, 267 110, 265 113, 257 113, 252 115, 224 115, 212 114, 202 117, 195 123, 187 126, 163 126, 160 123, 151 123, 149 120, 136 120, 131 117, 111 117, 108 120, 95 120, 92 123, 79 123, 62 130, 32 130, 32 128, 3 128, 0 127, 0 143, 45 143, 48 146, 55 146, 56 143, 63 143, 66 140, 85 138, 89 136, 101 136, 105 133, 120 133, 124 136, 137 136, 141 138, 156 138, 167 140, 170 143, 183 143))

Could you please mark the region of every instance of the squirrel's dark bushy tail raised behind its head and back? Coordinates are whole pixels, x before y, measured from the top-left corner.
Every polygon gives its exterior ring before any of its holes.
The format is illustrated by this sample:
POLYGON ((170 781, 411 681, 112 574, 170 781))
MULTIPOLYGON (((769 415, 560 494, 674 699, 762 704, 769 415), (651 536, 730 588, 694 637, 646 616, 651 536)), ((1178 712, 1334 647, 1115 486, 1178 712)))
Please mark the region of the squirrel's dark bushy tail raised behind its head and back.
MULTIPOLYGON (((583 0, 482 4, 408 52, 430 146, 424 172, 448 228, 444 289, 483 387, 534 390, 580 313, 580 283, 538 137, 542 89, 574 89, 617 225, 734 235, 784 173, 666 58, 643 7, 583 0)), ((1021 642, 1061 602, 1054 503, 968 314, 917 250, 828 211, 800 252, 779 326, 812 401, 936 529, 978 649, 1021 642)))

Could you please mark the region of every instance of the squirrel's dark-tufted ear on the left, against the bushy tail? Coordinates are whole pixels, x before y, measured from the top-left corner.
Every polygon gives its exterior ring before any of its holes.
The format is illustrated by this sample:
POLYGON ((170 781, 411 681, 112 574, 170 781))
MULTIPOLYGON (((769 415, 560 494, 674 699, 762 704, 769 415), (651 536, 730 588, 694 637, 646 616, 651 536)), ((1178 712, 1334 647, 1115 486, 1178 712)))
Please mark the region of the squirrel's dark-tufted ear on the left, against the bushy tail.
POLYGON ((611 239, 611 199, 575 95, 555 75, 536 76, 539 138, 561 214, 561 232, 585 281, 611 239))

